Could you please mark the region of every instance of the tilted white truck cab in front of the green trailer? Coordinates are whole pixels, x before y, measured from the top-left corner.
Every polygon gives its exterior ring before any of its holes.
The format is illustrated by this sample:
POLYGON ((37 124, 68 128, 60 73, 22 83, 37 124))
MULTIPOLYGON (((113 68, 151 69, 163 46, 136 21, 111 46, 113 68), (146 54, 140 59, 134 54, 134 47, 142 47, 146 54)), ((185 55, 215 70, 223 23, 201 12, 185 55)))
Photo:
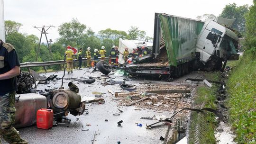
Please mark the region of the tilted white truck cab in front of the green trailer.
POLYGON ((196 45, 196 52, 200 53, 201 63, 206 64, 212 59, 211 57, 221 61, 229 57, 236 60, 239 58, 237 50, 238 36, 233 31, 213 20, 205 22, 196 45))

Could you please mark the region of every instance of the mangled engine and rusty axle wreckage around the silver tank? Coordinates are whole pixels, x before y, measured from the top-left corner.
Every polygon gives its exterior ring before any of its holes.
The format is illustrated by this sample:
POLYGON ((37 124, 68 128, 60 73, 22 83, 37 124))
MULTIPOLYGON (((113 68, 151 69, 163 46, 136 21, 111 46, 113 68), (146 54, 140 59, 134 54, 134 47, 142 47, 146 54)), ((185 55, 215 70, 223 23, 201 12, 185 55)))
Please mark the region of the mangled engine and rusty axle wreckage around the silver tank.
MULTIPOLYGON (((28 72, 21 72, 17 76, 17 94, 38 93, 46 97, 47 108, 53 109, 54 117, 60 121, 68 113, 77 116, 82 115, 85 110, 85 104, 81 102, 81 96, 78 94, 79 89, 72 82, 68 83, 69 89, 59 88, 58 90, 34 90, 36 79, 28 72)), ((21 95, 22 96, 22 95, 21 95)))

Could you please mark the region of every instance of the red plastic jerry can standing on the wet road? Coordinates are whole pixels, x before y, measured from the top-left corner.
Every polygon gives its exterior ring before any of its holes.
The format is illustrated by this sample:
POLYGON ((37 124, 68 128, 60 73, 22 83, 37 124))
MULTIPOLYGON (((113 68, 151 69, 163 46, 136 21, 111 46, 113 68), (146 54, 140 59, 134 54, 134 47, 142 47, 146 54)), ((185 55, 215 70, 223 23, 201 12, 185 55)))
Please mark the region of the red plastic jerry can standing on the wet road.
POLYGON ((53 110, 41 108, 37 110, 37 128, 48 129, 53 127, 53 110))

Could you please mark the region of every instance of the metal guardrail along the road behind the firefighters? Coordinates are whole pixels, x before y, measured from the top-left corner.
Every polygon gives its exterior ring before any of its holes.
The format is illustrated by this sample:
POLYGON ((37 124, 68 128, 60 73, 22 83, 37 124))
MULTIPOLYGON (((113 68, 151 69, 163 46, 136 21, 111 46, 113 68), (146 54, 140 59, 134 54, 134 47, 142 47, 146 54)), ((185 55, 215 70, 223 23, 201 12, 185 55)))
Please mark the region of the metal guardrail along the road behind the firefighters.
MULTIPOLYGON (((94 58, 91 58, 93 61, 94 58)), ((106 57, 106 60, 109 61, 110 57, 106 57)), ((99 60, 101 60, 101 57, 99 57, 99 60)), ((40 67, 42 66, 44 70, 47 72, 46 66, 51 66, 51 65, 62 65, 64 60, 59 60, 59 61, 49 61, 49 62, 26 62, 26 63, 20 63, 21 68, 27 68, 28 72, 30 72, 30 67, 40 67)), ((78 63, 78 59, 74 59, 74 64, 76 65, 78 63)), ((87 62, 87 58, 82 58, 82 63, 87 62)), ((84 64, 85 65, 85 64, 84 64)))

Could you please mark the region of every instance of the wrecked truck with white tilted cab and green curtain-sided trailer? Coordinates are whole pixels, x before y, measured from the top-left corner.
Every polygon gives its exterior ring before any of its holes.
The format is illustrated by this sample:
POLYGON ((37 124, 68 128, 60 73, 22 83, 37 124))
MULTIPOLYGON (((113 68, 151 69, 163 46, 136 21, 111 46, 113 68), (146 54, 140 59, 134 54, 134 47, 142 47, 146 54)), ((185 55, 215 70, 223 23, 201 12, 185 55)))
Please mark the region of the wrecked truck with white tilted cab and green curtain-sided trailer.
POLYGON ((216 20, 155 13, 152 54, 126 68, 131 75, 180 77, 190 70, 221 70, 228 60, 239 59, 237 52, 237 34, 216 20))

